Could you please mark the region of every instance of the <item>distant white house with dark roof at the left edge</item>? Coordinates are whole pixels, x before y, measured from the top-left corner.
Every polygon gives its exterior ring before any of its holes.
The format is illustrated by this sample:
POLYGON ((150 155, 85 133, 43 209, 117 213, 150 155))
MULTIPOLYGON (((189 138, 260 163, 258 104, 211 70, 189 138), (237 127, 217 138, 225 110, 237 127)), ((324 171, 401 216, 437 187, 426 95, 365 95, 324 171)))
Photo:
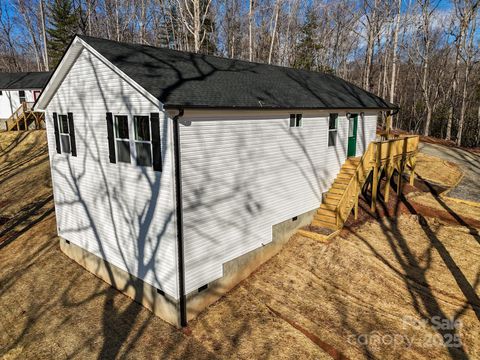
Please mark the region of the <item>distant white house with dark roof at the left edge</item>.
POLYGON ((22 106, 33 105, 50 77, 50 72, 0 73, 0 130, 22 106))

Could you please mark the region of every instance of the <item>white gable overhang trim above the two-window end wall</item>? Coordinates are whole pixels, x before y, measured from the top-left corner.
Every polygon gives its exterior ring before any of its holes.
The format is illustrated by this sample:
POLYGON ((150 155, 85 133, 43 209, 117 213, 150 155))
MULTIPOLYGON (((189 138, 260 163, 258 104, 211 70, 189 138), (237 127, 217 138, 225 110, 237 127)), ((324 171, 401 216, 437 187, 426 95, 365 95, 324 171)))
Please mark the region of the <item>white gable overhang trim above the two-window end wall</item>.
POLYGON ((105 65, 107 65, 110 69, 112 69, 115 73, 117 73, 121 78, 127 81, 131 86, 133 86, 137 91, 139 91, 142 95, 144 95, 149 101, 153 104, 157 105, 161 109, 163 108, 163 104, 151 93, 145 90, 142 86, 140 86, 137 82, 135 82, 132 78, 126 75, 123 71, 113 65, 110 61, 108 61, 102 54, 100 54, 97 50, 95 50, 92 46, 90 46, 87 42, 83 41, 80 37, 75 36, 71 41, 70 45, 68 46, 67 50, 63 54, 59 64, 53 71, 52 75, 47 81, 45 88, 43 89, 40 97, 37 99, 33 108, 39 111, 45 111, 50 103, 51 99, 55 95, 57 89, 62 84, 63 80, 67 76, 68 72, 75 64, 75 61, 78 59, 82 51, 86 49, 94 56, 96 56, 100 61, 102 61, 105 65))

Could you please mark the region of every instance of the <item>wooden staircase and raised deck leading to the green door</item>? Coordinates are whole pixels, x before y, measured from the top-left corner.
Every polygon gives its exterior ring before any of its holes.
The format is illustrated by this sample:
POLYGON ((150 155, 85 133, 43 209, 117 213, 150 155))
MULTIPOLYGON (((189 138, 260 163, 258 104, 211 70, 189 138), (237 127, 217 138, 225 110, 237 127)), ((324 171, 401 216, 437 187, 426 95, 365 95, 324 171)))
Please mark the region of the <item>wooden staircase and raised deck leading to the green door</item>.
MULTIPOLYGON (((366 181, 372 181, 372 211, 375 211, 378 184, 385 172, 387 181, 385 200, 388 201, 390 179, 397 170, 403 174, 405 166, 411 168, 410 183, 413 184, 415 158, 418 152, 418 136, 403 136, 386 141, 375 141, 368 145, 362 157, 348 158, 335 178, 332 187, 324 196, 320 208, 314 215, 313 228, 340 230, 347 221, 352 209, 355 218, 358 213, 358 197, 366 181), (369 177, 370 173, 373 173, 369 177)), ((401 189, 401 176, 398 188, 401 189)), ((303 231, 305 235, 305 231, 303 231)))

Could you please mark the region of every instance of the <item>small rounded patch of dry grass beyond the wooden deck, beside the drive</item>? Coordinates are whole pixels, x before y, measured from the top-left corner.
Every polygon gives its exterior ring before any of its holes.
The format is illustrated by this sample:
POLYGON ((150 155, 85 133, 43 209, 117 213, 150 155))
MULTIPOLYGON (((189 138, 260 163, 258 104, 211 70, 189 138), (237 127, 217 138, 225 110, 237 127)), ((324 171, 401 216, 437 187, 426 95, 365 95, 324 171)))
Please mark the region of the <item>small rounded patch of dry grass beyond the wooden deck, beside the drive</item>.
POLYGON ((415 173, 424 180, 445 187, 455 186, 462 177, 458 165, 423 153, 417 155, 415 173))

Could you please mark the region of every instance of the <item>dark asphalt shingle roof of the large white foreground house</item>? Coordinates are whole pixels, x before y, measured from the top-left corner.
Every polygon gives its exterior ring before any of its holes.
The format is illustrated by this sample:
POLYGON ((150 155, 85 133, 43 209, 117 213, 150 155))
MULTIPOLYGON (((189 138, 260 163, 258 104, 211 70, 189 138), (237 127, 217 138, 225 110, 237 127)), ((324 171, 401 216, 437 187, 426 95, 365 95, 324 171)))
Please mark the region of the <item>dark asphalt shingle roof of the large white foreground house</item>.
POLYGON ((329 74, 79 37, 166 107, 395 107, 329 74))

